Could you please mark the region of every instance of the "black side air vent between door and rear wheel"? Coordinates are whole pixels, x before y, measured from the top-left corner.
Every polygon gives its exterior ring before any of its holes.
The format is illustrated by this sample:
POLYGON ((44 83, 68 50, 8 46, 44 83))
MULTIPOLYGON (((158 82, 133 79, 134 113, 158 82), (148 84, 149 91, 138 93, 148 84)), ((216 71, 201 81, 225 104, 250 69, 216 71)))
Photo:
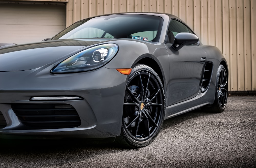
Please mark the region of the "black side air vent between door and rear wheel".
POLYGON ((211 81, 211 75, 212 75, 212 68, 213 68, 212 62, 207 62, 205 64, 204 75, 202 78, 201 92, 205 92, 206 89, 209 87, 209 84, 211 81))

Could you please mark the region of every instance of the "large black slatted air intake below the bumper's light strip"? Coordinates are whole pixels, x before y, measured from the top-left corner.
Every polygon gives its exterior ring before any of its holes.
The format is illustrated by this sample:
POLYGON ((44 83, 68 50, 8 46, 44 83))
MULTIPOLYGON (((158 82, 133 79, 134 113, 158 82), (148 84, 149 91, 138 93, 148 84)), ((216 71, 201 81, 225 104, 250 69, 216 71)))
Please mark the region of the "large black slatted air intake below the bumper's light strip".
POLYGON ((81 125, 76 109, 68 104, 12 104, 12 109, 29 129, 72 128, 81 125))

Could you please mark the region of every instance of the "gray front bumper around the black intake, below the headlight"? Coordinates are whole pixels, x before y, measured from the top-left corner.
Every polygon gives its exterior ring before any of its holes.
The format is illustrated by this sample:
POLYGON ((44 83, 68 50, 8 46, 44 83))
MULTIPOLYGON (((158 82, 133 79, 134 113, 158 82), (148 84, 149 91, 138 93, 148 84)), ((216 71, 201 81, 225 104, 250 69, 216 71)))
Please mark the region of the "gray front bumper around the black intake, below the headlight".
POLYGON ((89 72, 51 74, 53 67, 0 72, 0 115, 6 121, 0 134, 85 138, 120 135, 127 75, 105 67, 89 72), (47 96, 77 96, 81 100, 31 100, 31 97, 47 96), (14 104, 71 105, 81 125, 54 129, 26 126, 13 110, 14 104))

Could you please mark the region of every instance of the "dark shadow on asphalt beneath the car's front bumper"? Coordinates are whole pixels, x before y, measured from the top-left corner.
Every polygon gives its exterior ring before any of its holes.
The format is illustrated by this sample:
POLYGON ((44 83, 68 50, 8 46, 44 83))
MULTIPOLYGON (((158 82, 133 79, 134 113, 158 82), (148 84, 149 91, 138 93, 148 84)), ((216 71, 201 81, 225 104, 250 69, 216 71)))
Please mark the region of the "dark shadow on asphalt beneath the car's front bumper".
POLYGON ((6 165, 35 163, 35 167, 62 167, 120 151, 124 149, 91 139, 0 139, 0 167, 1 162, 6 165))

